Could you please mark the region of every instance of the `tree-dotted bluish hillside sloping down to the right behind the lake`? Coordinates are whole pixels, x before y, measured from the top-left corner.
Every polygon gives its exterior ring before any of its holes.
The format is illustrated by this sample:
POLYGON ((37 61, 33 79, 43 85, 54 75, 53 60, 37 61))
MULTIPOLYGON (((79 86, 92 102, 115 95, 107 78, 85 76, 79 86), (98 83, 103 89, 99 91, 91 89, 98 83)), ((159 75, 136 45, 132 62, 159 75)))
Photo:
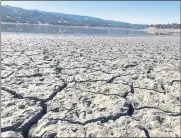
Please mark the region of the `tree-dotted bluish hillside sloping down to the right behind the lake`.
POLYGON ((23 8, 2 6, 2 22, 52 24, 68 26, 91 26, 91 27, 119 27, 145 29, 149 25, 131 24, 112 20, 103 20, 89 16, 71 15, 39 10, 26 10, 23 8))

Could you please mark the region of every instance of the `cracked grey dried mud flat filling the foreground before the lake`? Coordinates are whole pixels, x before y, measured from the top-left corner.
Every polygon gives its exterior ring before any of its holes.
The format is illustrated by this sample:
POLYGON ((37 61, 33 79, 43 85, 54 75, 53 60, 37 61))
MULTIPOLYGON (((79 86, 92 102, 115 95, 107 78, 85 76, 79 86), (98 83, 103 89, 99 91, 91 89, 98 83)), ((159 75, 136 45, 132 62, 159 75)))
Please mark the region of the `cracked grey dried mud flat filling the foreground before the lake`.
POLYGON ((179 36, 1 41, 1 137, 180 137, 179 36))

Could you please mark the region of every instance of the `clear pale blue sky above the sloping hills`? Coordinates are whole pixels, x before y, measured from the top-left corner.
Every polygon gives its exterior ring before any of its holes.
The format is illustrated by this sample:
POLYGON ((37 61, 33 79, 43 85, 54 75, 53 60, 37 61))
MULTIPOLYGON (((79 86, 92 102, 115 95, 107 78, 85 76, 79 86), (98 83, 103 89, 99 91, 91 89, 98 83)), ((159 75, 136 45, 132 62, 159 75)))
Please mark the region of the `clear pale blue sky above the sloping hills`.
POLYGON ((180 23, 179 1, 1 1, 1 4, 136 24, 180 23))

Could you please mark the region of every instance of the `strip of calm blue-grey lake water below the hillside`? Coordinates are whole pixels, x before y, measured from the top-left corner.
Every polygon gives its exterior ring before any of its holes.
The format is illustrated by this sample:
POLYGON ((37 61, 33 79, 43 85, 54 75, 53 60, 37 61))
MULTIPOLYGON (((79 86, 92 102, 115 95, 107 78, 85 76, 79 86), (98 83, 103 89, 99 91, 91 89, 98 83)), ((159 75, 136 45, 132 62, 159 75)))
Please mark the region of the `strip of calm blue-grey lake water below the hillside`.
POLYGON ((60 25, 1 24, 2 32, 23 33, 59 33, 59 34, 92 34, 92 35, 146 35, 136 29, 91 28, 60 25))

